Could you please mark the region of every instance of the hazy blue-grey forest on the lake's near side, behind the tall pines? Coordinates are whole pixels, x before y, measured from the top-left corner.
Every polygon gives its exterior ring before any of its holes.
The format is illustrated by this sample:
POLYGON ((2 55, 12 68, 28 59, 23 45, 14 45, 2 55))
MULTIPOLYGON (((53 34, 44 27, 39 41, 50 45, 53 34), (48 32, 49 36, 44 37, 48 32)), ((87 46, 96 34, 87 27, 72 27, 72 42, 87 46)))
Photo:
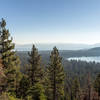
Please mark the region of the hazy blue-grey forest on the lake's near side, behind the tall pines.
MULTIPOLYGON (((50 51, 40 51, 39 52, 42 57, 42 64, 46 67, 49 63, 49 54, 50 51)), ((28 64, 28 51, 19 51, 17 55, 20 57, 21 60, 21 71, 24 72, 25 65, 28 64)), ((96 62, 86 62, 86 61, 77 61, 77 60, 66 60, 62 57, 62 64, 64 67, 65 73, 71 78, 78 76, 80 78, 81 86, 86 85, 87 77, 90 73, 92 81, 95 79, 96 75, 100 72, 100 63, 96 62), (83 82, 84 80, 84 82, 83 82)))

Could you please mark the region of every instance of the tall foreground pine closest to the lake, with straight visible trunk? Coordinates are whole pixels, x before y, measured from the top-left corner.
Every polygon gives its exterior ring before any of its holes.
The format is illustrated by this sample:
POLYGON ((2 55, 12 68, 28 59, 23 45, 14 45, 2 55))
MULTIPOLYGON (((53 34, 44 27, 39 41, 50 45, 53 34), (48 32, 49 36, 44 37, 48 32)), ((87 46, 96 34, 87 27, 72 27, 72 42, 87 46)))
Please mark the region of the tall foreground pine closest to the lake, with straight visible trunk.
POLYGON ((53 48, 50 56, 49 81, 51 84, 51 100, 64 99, 64 70, 62 66, 62 58, 59 56, 58 49, 53 48))

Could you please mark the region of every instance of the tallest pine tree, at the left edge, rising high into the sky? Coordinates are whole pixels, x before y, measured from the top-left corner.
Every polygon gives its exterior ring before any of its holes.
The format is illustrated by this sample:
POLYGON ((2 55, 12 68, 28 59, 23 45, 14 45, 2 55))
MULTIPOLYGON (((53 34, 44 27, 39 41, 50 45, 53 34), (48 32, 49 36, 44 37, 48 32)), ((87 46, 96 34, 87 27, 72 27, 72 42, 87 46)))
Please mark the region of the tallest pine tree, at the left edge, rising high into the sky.
POLYGON ((16 67, 20 64, 14 48, 15 45, 12 43, 9 30, 6 29, 6 22, 2 19, 0 23, 0 53, 7 79, 4 90, 11 94, 16 90, 16 67))

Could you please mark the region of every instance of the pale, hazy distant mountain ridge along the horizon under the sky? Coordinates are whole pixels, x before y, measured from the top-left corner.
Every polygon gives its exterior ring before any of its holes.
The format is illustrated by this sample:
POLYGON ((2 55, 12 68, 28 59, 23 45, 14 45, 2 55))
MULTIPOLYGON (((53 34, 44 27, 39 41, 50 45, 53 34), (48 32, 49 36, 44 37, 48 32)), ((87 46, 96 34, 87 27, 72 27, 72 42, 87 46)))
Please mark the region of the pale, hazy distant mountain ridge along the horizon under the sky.
MULTIPOLYGON (((100 43, 88 45, 88 44, 71 44, 71 43, 51 43, 51 44, 35 44, 39 50, 52 50, 56 46, 59 50, 80 50, 100 47, 100 43)), ((18 45, 16 44, 16 50, 18 51, 30 51, 32 44, 18 45)))

